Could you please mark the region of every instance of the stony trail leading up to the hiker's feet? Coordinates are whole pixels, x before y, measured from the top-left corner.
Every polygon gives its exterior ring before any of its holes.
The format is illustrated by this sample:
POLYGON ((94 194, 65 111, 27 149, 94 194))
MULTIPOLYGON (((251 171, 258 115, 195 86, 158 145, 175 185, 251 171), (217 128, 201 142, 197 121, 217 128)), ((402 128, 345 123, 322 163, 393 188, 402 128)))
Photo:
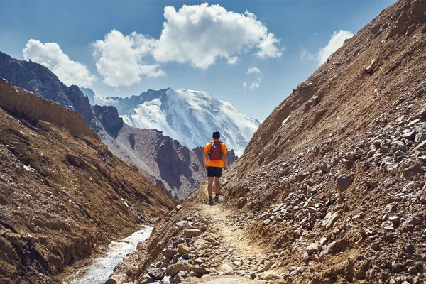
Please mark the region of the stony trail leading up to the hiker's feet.
MULTIPOLYGON (((201 200, 207 200, 207 188, 199 190, 201 200)), ((241 221, 222 202, 194 204, 191 214, 175 225, 185 229, 170 239, 163 257, 147 269, 140 283, 239 284, 282 279, 274 270, 274 256, 251 241, 241 221)))

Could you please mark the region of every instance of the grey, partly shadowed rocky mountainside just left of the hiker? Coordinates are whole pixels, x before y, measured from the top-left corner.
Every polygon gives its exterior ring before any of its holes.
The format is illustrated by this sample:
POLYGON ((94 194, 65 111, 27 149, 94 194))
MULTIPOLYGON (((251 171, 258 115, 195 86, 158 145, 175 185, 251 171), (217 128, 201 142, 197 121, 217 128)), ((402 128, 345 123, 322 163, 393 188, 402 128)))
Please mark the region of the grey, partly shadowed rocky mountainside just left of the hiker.
POLYGON ((163 136, 161 131, 124 124, 116 138, 105 134, 100 137, 112 153, 136 165, 143 175, 165 187, 176 200, 187 197, 207 176, 193 151, 163 136))

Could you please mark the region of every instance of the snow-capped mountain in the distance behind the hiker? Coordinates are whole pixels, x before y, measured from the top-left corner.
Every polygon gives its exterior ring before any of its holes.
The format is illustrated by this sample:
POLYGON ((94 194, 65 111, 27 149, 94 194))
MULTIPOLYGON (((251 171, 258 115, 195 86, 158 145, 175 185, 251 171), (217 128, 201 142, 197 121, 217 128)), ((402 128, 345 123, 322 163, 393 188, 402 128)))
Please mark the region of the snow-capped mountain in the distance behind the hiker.
POLYGON ((95 96, 94 103, 114 106, 126 124, 158 129, 187 148, 204 146, 213 131, 220 131, 221 141, 236 155, 244 152, 260 124, 229 102, 190 89, 149 89, 129 98, 95 96))

